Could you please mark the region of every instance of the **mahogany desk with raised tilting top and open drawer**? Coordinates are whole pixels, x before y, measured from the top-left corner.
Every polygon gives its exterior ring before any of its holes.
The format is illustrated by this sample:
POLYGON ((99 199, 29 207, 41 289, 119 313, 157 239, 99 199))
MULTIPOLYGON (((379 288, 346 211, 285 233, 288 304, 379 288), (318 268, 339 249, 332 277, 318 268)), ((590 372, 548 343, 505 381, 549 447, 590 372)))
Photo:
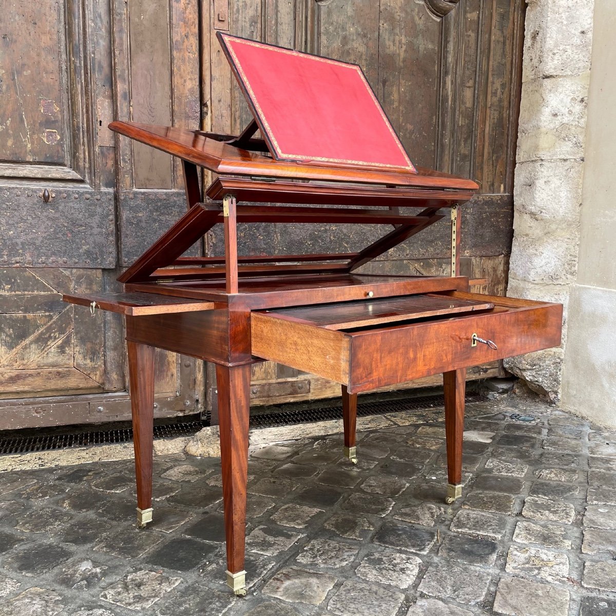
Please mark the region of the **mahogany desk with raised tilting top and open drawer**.
MULTIPOLYGON (((250 67, 242 65, 239 50, 246 42, 221 39, 245 86, 250 67)), ((259 51, 270 48, 252 46, 259 51)), ((272 49, 274 54, 286 51, 272 49)), ((306 56, 290 53, 301 62, 306 56)), ((302 67, 293 70, 301 72, 302 67)), ((301 158, 299 145, 299 155, 283 160, 284 134, 264 118, 267 101, 259 100, 257 88, 245 87, 245 94, 255 121, 238 137, 123 122, 110 125, 113 131, 182 160, 187 212, 118 278, 125 293, 64 296, 92 310, 126 315, 140 526, 152 521, 153 511, 155 347, 216 364, 227 582, 237 594, 245 593, 249 386, 254 362, 280 362, 341 384, 344 455, 351 462, 357 455, 358 393, 442 372, 446 500, 452 503, 461 495, 466 368, 557 346, 562 323, 559 304, 469 293, 468 278, 458 272, 460 206, 478 188, 472 180, 415 169, 405 154, 400 159, 395 147, 401 146, 391 127, 394 156, 401 163, 349 162, 350 158, 331 155, 301 158), (266 140, 254 139, 257 128, 266 140), (280 139, 275 139, 277 134, 280 139), (205 195, 198 167, 218 174, 205 195), (407 213, 400 208, 414 209, 407 213), (450 276, 357 271, 444 216, 451 221, 450 276), (383 225, 384 235, 357 253, 238 256, 237 224, 256 222, 370 223, 383 225), (182 257, 216 224, 224 225, 224 257, 182 257)), ((378 139, 380 143, 383 136, 378 139)))

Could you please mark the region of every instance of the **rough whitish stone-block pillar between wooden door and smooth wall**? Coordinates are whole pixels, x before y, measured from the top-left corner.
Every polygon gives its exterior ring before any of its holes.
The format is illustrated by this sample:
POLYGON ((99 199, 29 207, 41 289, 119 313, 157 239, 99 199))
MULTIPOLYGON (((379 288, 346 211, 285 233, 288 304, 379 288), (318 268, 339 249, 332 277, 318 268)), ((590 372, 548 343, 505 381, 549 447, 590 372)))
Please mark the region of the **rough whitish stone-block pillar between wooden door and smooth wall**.
POLYGON ((525 22, 508 294, 561 302, 565 320, 561 347, 505 366, 552 400, 561 394, 577 276, 593 4, 530 0, 525 22))

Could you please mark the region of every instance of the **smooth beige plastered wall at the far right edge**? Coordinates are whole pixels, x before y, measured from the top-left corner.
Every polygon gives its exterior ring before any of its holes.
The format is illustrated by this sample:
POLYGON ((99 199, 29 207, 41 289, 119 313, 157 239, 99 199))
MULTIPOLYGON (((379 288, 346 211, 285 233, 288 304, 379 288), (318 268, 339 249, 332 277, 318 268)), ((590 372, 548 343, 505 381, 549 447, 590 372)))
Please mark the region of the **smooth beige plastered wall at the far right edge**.
POLYGON ((561 395, 562 407, 610 428, 616 428, 615 31, 614 0, 595 0, 580 251, 561 395))

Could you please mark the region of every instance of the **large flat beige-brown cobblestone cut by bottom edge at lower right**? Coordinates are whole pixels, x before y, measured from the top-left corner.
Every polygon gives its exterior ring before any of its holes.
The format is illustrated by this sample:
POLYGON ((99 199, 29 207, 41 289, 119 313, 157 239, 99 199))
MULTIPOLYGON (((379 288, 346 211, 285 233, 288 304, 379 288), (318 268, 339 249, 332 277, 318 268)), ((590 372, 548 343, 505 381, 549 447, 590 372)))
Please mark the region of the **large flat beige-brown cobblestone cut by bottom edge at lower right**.
POLYGON ((501 578, 493 609, 507 616, 567 616, 569 592, 522 578, 501 578))

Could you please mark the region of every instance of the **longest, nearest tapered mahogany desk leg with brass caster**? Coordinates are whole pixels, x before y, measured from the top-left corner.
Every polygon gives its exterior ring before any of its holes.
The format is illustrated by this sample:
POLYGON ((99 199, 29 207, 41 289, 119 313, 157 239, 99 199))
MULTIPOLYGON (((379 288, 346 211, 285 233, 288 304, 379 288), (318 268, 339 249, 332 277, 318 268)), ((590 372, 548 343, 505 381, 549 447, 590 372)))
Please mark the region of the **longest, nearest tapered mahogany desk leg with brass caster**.
POLYGON ((227 538, 227 584, 235 594, 246 594, 244 553, 250 366, 217 365, 216 384, 227 538))

